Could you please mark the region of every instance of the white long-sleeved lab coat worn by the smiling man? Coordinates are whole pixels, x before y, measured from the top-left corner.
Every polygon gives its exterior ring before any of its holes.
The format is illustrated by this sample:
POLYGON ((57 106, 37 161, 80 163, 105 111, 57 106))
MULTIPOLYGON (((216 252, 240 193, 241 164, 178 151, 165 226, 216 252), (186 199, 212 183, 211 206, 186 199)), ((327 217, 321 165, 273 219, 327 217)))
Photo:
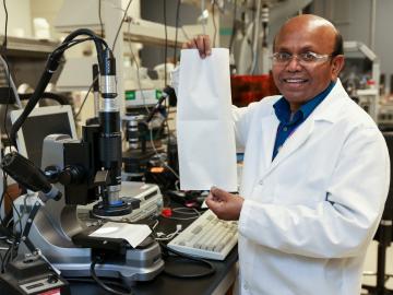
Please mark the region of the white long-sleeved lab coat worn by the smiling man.
POLYGON ((234 108, 245 148, 238 291, 358 295, 389 189, 383 135, 338 80, 272 162, 278 98, 234 108))

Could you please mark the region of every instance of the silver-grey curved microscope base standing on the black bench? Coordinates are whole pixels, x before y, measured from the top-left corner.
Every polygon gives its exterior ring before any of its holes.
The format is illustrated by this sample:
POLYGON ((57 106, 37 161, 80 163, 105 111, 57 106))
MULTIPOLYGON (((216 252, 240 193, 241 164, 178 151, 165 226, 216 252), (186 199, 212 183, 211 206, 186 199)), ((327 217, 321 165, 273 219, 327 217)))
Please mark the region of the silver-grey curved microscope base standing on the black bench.
MULTIPOLYGON (((19 211, 15 216, 21 216, 25 202, 28 208, 34 204, 36 196, 20 197, 15 201, 19 211)), ((59 202, 52 203, 58 205, 59 202)), ((123 239, 108 239, 98 243, 88 234, 96 226, 87 226, 86 222, 78 219, 76 206, 40 208, 32 224, 28 235, 34 247, 39 249, 46 259, 58 270, 63 278, 92 276, 91 266, 98 256, 104 259, 97 263, 95 272, 98 276, 120 279, 128 286, 138 281, 153 280, 164 270, 164 261, 158 243, 146 238, 140 246, 132 248, 123 239)), ((26 223, 27 214, 22 216, 22 224, 26 223)), ((102 220, 95 220, 97 226, 102 220)), ((19 247, 19 253, 29 253, 24 243, 19 247)))

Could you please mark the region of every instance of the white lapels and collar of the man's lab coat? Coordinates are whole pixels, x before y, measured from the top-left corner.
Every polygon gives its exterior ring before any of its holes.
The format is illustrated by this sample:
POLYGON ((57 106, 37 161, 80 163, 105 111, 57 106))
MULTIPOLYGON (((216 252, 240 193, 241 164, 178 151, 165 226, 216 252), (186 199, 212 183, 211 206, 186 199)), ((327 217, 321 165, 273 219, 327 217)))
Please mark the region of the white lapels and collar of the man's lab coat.
POLYGON ((293 154, 297 149, 306 143, 307 139, 311 135, 314 128, 315 121, 327 121, 334 122, 337 120, 338 110, 342 108, 344 99, 348 95, 346 94, 340 79, 332 88, 331 93, 326 98, 314 109, 314 111, 302 122, 297 130, 291 134, 284 145, 282 146, 277 156, 271 161, 271 155, 274 148, 274 140, 276 138, 278 119, 276 118, 272 105, 272 113, 269 117, 262 119, 263 130, 269 130, 263 134, 264 146, 266 146, 267 154, 264 156, 264 164, 267 169, 265 170, 264 177, 267 176, 275 167, 277 167, 285 158, 293 154))

